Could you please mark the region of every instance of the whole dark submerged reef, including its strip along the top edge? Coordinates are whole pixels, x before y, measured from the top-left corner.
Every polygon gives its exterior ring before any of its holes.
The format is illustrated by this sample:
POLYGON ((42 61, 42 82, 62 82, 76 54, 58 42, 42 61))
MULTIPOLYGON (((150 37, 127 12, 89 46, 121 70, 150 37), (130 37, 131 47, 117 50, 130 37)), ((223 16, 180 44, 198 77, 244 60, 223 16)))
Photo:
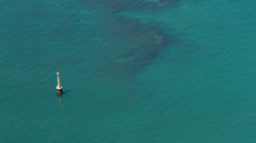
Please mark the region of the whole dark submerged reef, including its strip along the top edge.
MULTIPOLYGON (((170 44, 170 37, 157 25, 145 25, 135 19, 127 19, 120 15, 125 10, 140 10, 150 8, 156 10, 162 7, 161 4, 174 5, 176 1, 77 1, 90 8, 104 11, 103 24, 108 28, 103 35, 109 37, 109 41, 116 41, 119 48, 108 47, 111 58, 107 61, 108 66, 103 66, 105 71, 110 73, 134 74, 150 63, 157 53, 170 44), (160 5, 159 5, 160 4, 160 5), (114 71, 113 71, 114 70, 114 71)), ((105 61, 104 61, 105 63, 105 61)))

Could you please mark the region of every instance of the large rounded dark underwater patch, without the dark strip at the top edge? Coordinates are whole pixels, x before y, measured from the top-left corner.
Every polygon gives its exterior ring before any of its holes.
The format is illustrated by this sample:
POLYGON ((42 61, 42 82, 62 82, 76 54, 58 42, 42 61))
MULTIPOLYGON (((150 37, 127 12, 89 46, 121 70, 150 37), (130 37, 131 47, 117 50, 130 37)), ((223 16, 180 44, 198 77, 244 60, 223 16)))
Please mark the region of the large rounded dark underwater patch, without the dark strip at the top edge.
MULTIPOLYGON (((156 26, 146 26, 136 20, 123 17, 110 17, 113 21, 104 35, 115 41, 119 48, 110 49, 105 71, 132 75, 149 64, 166 47, 169 36, 158 30, 156 26)), ((111 47, 110 47, 111 48, 111 47)))

